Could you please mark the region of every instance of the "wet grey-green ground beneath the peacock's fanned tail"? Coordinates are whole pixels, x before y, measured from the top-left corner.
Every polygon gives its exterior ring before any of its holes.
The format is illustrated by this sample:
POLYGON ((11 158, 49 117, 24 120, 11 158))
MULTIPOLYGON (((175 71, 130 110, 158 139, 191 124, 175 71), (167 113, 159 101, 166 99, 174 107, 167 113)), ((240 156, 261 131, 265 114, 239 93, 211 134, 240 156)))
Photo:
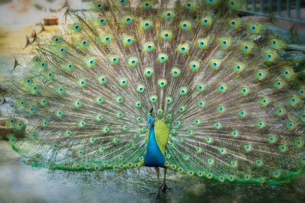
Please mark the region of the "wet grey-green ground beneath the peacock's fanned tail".
MULTIPOLYGON (((163 170, 161 171, 163 174, 163 170)), ((65 172, 25 165, 7 141, 0 142, 0 202, 304 202, 305 174, 288 184, 219 183, 172 171, 164 197, 153 168, 124 172, 65 172)))

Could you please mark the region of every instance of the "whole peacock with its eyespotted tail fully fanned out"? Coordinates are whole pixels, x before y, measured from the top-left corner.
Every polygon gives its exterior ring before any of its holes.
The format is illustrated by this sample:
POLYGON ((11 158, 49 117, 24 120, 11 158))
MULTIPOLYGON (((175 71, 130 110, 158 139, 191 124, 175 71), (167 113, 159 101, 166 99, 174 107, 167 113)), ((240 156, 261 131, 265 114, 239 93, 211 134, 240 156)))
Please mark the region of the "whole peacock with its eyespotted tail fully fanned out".
POLYGON ((34 57, 6 88, 12 149, 50 170, 155 167, 157 196, 168 169, 290 181, 305 166, 305 72, 281 32, 239 17, 241 7, 104 0, 68 9, 62 30, 42 26, 27 43, 34 57))

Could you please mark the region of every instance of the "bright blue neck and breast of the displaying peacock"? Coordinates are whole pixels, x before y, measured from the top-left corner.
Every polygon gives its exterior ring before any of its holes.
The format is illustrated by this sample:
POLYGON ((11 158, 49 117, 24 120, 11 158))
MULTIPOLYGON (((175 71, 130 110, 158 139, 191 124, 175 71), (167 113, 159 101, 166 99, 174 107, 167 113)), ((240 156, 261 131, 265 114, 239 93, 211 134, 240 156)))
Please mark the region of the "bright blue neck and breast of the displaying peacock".
POLYGON ((148 146, 144 162, 145 166, 148 167, 164 167, 165 158, 156 141, 154 124, 149 128, 148 146))

